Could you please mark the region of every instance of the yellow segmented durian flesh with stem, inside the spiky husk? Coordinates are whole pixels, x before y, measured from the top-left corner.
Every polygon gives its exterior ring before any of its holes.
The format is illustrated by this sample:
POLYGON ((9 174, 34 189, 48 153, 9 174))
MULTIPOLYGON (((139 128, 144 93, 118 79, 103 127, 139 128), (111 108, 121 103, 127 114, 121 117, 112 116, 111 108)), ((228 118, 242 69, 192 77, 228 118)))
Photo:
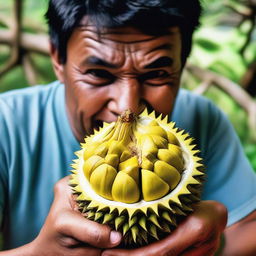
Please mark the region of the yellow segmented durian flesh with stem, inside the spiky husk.
MULTIPOLYGON (((123 203, 157 200, 176 187, 180 175, 175 171, 170 173, 169 166, 182 172, 184 169, 182 150, 177 143, 169 143, 170 132, 165 131, 156 120, 144 125, 143 129, 140 127, 139 132, 136 131, 138 119, 131 115, 131 120, 127 120, 119 118, 112 131, 106 133, 102 142, 94 147, 95 155, 91 155, 90 152, 90 157, 85 159, 84 173, 95 191, 106 199, 114 198, 113 200, 123 203), (122 159, 121 156, 123 156, 122 159), (154 164, 155 162, 157 164, 154 164), (169 165, 161 164, 162 162, 169 165), (160 170, 165 167, 166 170, 160 170), (114 175, 113 170, 123 173, 117 176, 114 175), (148 173, 148 171, 152 173, 148 173), (104 175, 101 182, 96 179, 96 177, 100 177, 99 175, 104 175), (120 177, 124 178, 123 183, 120 177), (112 189, 109 186, 113 184, 114 188, 112 189), (106 188, 97 187, 105 185, 106 188), (131 191, 130 187, 134 187, 136 196, 131 192, 128 193, 131 191), (115 196, 112 194, 113 191, 115 191, 115 196)), ((171 140, 175 141, 173 138, 171 140)), ((93 142, 92 145, 98 142, 93 142)))

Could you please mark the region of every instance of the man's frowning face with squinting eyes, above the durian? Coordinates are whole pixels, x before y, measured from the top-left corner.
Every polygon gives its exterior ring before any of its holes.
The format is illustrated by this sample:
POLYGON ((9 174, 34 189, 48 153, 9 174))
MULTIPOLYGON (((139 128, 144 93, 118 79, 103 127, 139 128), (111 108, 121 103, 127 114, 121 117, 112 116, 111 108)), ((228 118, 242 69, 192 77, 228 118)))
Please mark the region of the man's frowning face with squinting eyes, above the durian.
POLYGON ((102 29, 99 36, 93 26, 75 29, 67 61, 56 73, 65 84, 67 113, 79 141, 126 109, 172 111, 182 67, 181 37, 176 27, 169 32, 156 37, 118 28, 102 29))

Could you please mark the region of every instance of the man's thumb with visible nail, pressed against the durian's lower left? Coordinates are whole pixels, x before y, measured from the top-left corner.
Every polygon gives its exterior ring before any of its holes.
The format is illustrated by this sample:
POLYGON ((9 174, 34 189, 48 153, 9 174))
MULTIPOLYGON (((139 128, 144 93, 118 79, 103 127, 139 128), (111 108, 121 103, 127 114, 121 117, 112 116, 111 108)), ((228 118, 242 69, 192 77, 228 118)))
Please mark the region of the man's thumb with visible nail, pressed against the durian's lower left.
POLYGON ((88 220, 72 210, 62 212, 55 225, 60 234, 97 248, 112 248, 122 239, 119 232, 112 231, 107 225, 88 220))

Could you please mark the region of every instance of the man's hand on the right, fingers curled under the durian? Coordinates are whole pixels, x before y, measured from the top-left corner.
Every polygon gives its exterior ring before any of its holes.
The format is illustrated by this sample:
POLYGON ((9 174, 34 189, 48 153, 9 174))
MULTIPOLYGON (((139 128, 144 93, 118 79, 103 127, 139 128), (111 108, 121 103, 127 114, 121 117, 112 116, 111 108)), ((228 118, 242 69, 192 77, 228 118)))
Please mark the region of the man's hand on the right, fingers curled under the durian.
POLYGON ((168 237, 138 249, 110 249, 102 256, 210 256, 219 247, 227 210, 215 201, 202 201, 168 237))

